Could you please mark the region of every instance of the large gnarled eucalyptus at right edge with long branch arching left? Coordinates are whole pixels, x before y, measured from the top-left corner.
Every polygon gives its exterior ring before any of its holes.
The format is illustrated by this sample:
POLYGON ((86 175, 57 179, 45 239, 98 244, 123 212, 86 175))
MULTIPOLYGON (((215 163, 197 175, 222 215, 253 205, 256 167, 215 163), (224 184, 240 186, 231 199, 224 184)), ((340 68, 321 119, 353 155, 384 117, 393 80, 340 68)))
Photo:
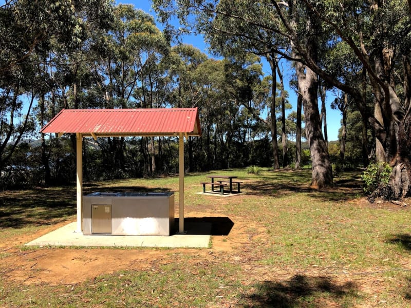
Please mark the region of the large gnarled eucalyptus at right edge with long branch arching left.
MULTIPOLYGON (((296 32, 287 20, 287 11, 272 2, 282 16, 291 38, 296 32)), ((349 93, 363 119, 372 126, 378 143, 377 157, 394 166, 391 198, 404 197, 409 191, 409 135, 411 122, 408 70, 410 63, 410 14, 405 1, 334 2, 304 1, 305 8, 346 44, 366 71, 375 98, 374 112, 369 112, 364 91, 335 79, 316 65, 308 48, 297 38, 295 46, 307 66, 332 85, 349 93), (399 59, 399 61, 396 61, 399 59), (400 94, 401 93, 401 94, 400 94)))

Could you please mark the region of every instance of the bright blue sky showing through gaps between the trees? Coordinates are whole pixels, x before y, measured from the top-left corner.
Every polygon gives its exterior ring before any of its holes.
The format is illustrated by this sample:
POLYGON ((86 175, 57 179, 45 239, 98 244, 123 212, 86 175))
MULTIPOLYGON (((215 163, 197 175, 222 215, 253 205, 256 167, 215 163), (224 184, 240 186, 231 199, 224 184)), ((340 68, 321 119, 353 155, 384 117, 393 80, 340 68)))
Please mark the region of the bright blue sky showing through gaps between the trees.
MULTIPOLYGON (((141 9, 147 13, 152 14, 155 16, 155 12, 151 9, 151 1, 149 0, 125 0, 125 1, 116 1, 117 4, 132 4, 136 9, 141 9)), ((178 22, 176 22, 178 23, 178 22)), ((157 23, 157 27, 159 29, 162 29, 162 24, 157 23)), ((194 36, 194 35, 187 35, 183 38, 183 43, 186 44, 191 44, 200 49, 204 53, 208 53, 207 46, 204 44, 203 38, 199 35, 194 36)), ((286 87, 286 90, 289 93, 289 102, 292 105, 292 110, 296 110, 296 103, 297 103, 297 97, 294 92, 294 90, 290 89, 288 87, 289 81, 290 81, 290 75, 287 74, 287 71, 291 69, 290 66, 284 66, 284 85, 286 87)), ((264 73, 269 75, 271 73, 270 66, 266 63, 264 65, 263 62, 263 70, 264 73)), ((330 92, 327 93, 327 132, 328 132, 328 140, 338 140, 338 130, 341 127, 341 112, 340 110, 333 110, 330 107, 330 103, 333 102, 335 99, 334 95, 330 92)), ((319 102, 321 104, 321 102, 319 102)))

